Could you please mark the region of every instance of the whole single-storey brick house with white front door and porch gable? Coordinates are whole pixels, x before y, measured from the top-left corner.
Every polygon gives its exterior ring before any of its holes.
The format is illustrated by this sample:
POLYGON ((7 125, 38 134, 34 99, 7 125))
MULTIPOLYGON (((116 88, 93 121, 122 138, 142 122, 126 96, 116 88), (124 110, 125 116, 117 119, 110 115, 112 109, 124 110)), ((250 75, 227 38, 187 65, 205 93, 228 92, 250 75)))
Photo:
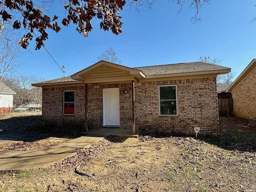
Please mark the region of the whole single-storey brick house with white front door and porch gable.
POLYGON ((100 61, 69 77, 48 80, 43 125, 218 134, 217 74, 230 68, 203 62, 130 68, 100 61))

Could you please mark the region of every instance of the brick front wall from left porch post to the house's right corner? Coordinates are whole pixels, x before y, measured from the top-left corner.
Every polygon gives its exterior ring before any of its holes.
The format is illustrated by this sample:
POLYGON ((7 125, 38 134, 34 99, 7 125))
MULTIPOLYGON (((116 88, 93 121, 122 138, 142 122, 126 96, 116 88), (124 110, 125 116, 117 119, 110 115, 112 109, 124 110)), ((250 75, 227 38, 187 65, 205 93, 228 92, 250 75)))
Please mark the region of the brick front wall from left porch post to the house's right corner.
MULTIPOLYGON (((88 86, 88 125, 102 128, 102 88, 128 90, 120 94, 120 128, 132 129, 131 83, 88 86)), ((170 133, 218 134, 218 101, 216 78, 142 82, 135 87, 136 129, 170 133), (178 85, 178 116, 159 116, 158 85, 178 85)))

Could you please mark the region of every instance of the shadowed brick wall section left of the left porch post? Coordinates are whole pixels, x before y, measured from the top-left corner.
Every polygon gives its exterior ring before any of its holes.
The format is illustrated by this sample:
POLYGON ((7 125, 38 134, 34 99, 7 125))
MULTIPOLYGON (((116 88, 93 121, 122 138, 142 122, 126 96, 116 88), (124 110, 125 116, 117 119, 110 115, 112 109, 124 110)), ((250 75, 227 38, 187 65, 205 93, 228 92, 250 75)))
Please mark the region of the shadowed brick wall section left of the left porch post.
POLYGON ((43 126, 58 132, 82 132, 85 128, 84 86, 43 88, 43 126), (63 115, 63 90, 75 91, 75 115, 63 115))

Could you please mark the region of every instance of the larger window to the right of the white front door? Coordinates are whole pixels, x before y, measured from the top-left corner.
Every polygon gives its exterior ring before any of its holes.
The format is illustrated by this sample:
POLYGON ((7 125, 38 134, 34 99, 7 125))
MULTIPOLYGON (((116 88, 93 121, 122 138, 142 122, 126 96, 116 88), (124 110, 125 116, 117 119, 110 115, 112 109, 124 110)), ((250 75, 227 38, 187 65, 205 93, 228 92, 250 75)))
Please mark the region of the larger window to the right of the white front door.
POLYGON ((177 115, 177 85, 159 86, 159 114, 177 115))

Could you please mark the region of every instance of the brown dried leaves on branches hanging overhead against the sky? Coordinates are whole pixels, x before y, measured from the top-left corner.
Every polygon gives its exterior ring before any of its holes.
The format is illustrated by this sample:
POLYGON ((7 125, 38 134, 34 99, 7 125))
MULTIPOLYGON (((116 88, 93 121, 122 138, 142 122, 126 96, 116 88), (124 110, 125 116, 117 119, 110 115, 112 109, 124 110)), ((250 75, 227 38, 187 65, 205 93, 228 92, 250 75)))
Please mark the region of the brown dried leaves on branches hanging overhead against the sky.
MULTIPOLYGON (((122 32, 121 17, 118 14, 125 3, 125 0, 68 0, 67 5, 64 6, 66 15, 62 19, 62 24, 68 26, 73 22, 77 25, 76 30, 87 37, 88 32, 92 30, 92 18, 96 17, 101 20, 101 29, 111 30, 118 35, 122 32)), ((36 50, 44 46, 44 41, 48 39, 47 28, 57 33, 61 30, 56 22, 58 17, 54 16, 51 19, 40 10, 40 7, 34 5, 32 0, 4 0, 0 1, 0 7, 3 22, 11 22, 14 30, 25 30, 19 42, 25 49, 34 36, 36 36, 36 50), (17 11, 21 15, 20 18, 12 15, 17 11)))

